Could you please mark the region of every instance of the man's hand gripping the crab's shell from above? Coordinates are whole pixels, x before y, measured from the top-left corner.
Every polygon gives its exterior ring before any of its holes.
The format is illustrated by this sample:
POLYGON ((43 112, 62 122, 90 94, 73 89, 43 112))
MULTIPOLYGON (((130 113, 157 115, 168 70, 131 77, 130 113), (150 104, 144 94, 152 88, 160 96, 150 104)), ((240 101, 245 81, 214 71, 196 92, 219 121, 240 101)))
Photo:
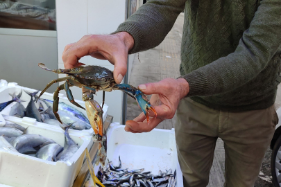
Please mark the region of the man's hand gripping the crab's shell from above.
POLYGON ((114 35, 85 35, 78 42, 65 46, 62 60, 66 69, 85 65, 81 57, 90 55, 114 64, 114 80, 119 84, 127 71, 128 51, 134 46, 133 37, 121 32, 114 35))

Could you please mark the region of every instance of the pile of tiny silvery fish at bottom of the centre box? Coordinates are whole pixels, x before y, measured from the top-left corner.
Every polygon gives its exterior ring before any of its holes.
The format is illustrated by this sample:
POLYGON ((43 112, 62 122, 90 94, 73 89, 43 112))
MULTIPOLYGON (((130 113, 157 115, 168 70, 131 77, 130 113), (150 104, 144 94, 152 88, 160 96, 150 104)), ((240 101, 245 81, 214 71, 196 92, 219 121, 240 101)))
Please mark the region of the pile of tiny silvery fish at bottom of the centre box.
POLYGON ((121 169, 120 157, 119 166, 113 166, 112 161, 108 161, 105 170, 100 167, 96 177, 105 186, 176 186, 176 170, 173 174, 171 169, 165 172, 159 170, 158 175, 153 175, 150 171, 144 172, 144 168, 138 170, 121 169))

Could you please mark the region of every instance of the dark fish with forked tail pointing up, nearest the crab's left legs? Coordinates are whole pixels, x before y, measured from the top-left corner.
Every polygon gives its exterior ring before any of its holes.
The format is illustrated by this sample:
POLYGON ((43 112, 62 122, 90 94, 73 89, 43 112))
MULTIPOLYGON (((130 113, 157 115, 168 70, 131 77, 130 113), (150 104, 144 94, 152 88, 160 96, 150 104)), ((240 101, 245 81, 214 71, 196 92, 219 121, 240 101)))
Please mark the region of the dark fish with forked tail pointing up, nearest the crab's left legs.
MULTIPOLYGON (((25 90, 24 90, 25 91, 25 90)), ((26 94, 28 94, 29 96, 31 96, 31 100, 29 101, 27 107, 26 107, 26 116, 29 118, 35 118, 36 121, 38 122, 42 122, 44 123, 44 119, 42 118, 40 112, 38 111, 33 97, 39 92, 39 91, 35 91, 33 93, 29 93, 28 91, 25 91, 26 94)))

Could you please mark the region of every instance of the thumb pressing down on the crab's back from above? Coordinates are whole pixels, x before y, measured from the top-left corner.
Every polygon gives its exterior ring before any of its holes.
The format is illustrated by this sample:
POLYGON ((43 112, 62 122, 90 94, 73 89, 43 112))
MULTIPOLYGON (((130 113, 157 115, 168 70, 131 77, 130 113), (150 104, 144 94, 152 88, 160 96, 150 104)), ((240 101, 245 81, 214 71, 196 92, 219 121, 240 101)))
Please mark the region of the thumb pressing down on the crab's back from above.
POLYGON ((114 80, 117 84, 120 84, 127 72, 127 60, 128 54, 117 55, 114 59, 114 80))

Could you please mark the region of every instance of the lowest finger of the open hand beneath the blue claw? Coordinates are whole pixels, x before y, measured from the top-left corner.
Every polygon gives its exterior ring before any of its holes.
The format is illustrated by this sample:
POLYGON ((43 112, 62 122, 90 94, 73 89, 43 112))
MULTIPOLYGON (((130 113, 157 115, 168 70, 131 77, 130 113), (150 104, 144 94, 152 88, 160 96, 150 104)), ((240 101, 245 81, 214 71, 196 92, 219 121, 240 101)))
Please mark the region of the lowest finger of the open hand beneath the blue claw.
POLYGON ((151 123, 148 125, 148 123, 135 122, 130 120, 126 121, 126 127, 134 132, 150 132, 162 121, 163 120, 160 118, 153 118, 151 119, 151 123))

